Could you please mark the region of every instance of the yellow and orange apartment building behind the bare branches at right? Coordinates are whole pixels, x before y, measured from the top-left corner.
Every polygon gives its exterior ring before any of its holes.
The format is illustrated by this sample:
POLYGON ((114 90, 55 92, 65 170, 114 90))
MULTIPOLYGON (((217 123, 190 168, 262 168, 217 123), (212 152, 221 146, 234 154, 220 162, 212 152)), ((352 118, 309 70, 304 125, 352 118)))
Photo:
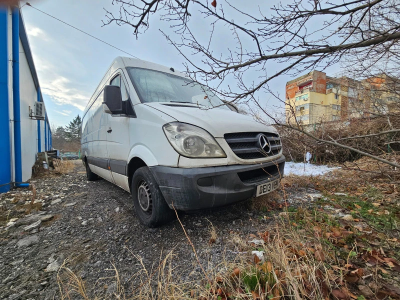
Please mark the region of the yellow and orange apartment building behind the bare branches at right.
POLYGON ((312 70, 286 83, 286 121, 307 125, 398 111, 398 82, 385 74, 355 80, 312 70))

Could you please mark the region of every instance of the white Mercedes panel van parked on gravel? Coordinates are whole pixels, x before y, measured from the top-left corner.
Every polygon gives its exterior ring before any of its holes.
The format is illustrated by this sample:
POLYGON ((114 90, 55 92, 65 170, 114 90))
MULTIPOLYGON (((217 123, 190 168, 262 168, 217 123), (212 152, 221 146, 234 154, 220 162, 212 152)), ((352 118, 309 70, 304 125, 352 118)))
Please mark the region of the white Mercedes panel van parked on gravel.
POLYGON ((237 113, 172 67, 129 57, 111 63, 82 118, 87 180, 132 194, 154 227, 176 210, 216 207, 276 189, 284 156, 275 128, 237 113))

